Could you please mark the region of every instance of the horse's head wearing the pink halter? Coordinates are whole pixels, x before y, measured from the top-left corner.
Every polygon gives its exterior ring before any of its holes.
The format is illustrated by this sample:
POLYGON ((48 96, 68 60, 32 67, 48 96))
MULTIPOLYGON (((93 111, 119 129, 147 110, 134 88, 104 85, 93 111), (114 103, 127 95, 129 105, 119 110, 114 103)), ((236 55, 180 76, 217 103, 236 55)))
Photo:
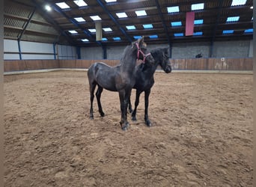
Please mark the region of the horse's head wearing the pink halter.
POLYGON ((132 43, 132 47, 134 46, 137 48, 137 58, 142 60, 142 63, 145 63, 146 60, 150 64, 153 63, 154 59, 147 49, 147 44, 144 43, 144 37, 132 43))

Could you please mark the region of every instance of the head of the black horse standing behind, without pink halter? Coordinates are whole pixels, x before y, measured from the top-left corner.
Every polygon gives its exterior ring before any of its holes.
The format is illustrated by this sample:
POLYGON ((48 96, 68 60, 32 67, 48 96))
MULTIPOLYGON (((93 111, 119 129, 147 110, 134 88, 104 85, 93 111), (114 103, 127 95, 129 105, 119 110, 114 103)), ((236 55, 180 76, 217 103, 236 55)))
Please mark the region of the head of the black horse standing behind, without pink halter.
POLYGON ((169 61, 168 48, 157 48, 151 51, 154 59, 159 61, 159 66, 165 73, 171 73, 171 63, 169 61))

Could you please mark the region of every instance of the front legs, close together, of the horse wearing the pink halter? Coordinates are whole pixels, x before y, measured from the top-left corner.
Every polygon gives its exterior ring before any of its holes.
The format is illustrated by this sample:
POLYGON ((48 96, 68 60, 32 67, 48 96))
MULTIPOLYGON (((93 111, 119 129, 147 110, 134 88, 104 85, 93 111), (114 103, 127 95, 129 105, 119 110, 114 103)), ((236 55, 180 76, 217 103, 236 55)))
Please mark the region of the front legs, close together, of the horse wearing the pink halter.
POLYGON ((129 123, 127 121, 127 106, 128 106, 128 96, 127 92, 122 90, 119 91, 119 99, 120 99, 120 108, 121 108, 121 128, 126 131, 129 123))

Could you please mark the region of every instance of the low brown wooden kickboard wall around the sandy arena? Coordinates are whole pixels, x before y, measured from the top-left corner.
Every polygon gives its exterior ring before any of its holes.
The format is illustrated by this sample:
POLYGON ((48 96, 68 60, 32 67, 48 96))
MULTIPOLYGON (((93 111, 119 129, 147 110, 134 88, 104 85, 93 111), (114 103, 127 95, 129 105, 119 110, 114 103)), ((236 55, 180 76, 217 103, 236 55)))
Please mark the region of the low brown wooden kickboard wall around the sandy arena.
MULTIPOLYGON (((56 68, 88 68, 99 60, 16 60, 4 61, 4 72, 56 68)), ((110 66, 118 60, 100 60, 110 66)), ((253 70, 252 58, 170 59, 173 70, 253 70)))

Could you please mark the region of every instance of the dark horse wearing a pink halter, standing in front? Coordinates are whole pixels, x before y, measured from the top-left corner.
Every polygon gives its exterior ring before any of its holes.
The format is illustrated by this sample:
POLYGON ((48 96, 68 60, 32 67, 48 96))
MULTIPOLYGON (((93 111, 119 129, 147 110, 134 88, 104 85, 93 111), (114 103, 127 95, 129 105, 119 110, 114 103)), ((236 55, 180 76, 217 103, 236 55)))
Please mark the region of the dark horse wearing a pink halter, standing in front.
POLYGON ((135 64, 137 59, 141 59, 144 62, 147 61, 147 63, 153 63, 153 57, 148 52, 143 37, 132 43, 132 46, 127 46, 124 49, 121 62, 118 66, 110 67, 102 62, 97 62, 89 67, 88 81, 91 95, 91 119, 94 119, 93 101, 96 86, 98 86, 96 93, 97 104, 102 117, 105 115, 100 103, 103 88, 109 91, 118 91, 121 107, 120 124, 123 130, 127 130, 129 126, 127 122, 127 108, 132 87, 135 85, 135 64))

